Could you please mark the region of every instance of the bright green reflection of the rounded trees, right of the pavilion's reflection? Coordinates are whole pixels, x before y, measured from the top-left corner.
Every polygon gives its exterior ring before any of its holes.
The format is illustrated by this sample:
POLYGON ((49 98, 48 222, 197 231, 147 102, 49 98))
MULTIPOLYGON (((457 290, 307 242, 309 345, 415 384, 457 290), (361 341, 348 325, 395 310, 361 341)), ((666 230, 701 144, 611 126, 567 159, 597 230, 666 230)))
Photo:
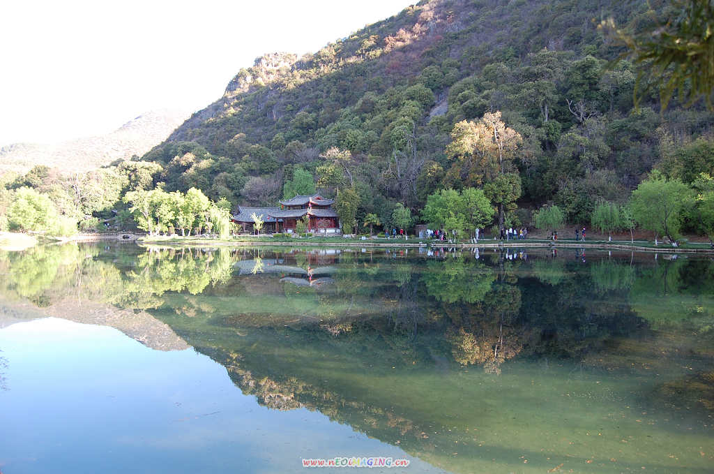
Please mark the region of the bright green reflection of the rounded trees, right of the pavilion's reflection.
POLYGON ((495 280, 493 270, 483 264, 466 263, 461 256, 428 262, 422 277, 429 295, 447 303, 481 301, 495 280))

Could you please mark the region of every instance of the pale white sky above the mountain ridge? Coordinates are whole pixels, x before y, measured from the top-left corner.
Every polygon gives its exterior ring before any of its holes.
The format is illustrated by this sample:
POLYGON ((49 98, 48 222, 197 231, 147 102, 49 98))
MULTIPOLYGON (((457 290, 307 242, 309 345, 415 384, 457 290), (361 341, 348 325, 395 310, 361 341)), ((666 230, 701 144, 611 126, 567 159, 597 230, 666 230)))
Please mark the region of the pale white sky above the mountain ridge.
POLYGON ((0 146, 195 112, 241 67, 303 54, 417 0, 18 0, 0 6, 0 146))

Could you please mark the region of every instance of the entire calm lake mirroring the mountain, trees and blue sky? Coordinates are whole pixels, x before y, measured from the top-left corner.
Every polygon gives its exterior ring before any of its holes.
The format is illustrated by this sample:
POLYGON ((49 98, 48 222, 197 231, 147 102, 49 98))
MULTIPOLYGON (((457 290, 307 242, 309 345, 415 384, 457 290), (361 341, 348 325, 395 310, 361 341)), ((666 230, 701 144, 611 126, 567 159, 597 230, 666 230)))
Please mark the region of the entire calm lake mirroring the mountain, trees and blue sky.
POLYGON ((701 255, 46 245, 0 351, 5 474, 714 470, 701 255))

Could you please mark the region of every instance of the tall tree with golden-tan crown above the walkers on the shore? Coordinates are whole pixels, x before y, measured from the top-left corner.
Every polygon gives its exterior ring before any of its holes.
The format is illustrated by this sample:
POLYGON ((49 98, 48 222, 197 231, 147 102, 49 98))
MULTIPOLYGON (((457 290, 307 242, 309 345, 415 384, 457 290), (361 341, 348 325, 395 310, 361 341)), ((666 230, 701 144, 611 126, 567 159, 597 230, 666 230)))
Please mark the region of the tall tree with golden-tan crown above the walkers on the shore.
POLYGON ((463 187, 481 187, 483 184, 512 183, 513 186, 492 187, 493 202, 498 204, 498 228, 503 229, 506 209, 521 196, 520 179, 504 179, 516 174, 516 157, 523 143, 521 134, 506 127, 501 112, 486 112, 478 122, 463 120, 454 125, 447 156, 453 161, 447 182, 461 183, 463 187), (499 193, 503 192, 503 196, 499 193))

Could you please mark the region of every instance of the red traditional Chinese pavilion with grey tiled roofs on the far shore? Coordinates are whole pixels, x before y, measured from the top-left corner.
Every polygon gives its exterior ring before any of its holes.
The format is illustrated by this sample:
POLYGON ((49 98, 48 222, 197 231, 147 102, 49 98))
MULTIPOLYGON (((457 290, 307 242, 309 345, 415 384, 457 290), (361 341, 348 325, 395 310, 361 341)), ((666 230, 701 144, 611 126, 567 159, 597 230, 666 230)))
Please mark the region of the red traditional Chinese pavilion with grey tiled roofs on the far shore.
POLYGON ((281 201, 281 207, 244 207, 238 206, 233 214, 233 222, 243 226, 250 232, 255 220, 253 213, 265 221, 264 232, 294 232, 298 219, 307 219, 308 232, 320 234, 336 234, 340 232, 337 212, 332 209, 333 199, 325 199, 320 194, 312 196, 297 195, 292 199, 281 201))

